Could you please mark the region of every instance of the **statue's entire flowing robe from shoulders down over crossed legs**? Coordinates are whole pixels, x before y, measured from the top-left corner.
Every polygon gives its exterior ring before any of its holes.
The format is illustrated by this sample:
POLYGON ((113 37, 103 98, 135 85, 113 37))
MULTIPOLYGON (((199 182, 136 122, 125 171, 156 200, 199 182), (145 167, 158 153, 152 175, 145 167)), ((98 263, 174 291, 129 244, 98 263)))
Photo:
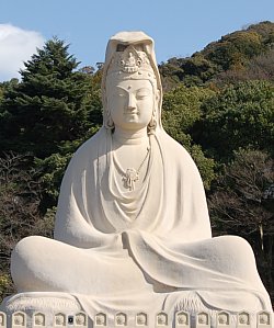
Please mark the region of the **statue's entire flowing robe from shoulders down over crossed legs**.
POLYGON ((272 310, 249 244, 212 238, 191 156, 163 131, 150 136, 150 148, 135 191, 119 186, 104 127, 78 149, 62 180, 55 240, 27 237, 12 253, 19 292, 72 295, 91 317, 173 313, 185 304, 195 312, 272 310))

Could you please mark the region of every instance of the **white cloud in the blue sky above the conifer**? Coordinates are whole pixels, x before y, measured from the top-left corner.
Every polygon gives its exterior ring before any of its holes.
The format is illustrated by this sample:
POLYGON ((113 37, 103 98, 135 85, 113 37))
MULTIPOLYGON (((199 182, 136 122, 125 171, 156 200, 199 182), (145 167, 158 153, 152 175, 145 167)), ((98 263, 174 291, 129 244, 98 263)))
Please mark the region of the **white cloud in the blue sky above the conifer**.
POLYGON ((0 24, 0 81, 20 78, 19 69, 44 45, 43 36, 12 24, 0 24))

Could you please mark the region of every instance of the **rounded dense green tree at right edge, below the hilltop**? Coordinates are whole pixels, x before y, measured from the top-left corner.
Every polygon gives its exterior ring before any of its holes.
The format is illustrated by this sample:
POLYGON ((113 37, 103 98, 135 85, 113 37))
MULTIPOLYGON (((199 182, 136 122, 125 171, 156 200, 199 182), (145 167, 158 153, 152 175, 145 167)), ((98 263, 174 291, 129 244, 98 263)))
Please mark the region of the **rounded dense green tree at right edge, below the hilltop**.
POLYGON ((273 151, 274 86, 267 81, 230 84, 206 100, 195 142, 217 160, 232 157, 240 147, 273 151))

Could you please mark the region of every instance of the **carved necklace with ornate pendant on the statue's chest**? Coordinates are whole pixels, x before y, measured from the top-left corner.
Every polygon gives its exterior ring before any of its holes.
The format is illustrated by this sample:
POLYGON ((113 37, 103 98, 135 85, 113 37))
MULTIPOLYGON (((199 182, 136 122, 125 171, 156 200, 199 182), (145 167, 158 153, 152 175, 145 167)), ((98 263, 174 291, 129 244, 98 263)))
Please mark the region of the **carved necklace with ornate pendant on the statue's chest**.
POLYGON ((114 162, 117 167, 117 171, 121 173, 122 176, 122 181, 124 182, 125 186, 127 189, 129 189, 129 191, 134 191, 135 190, 135 182, 139 180, 139 173, 141 168, 144 167, 148 156, 150 154, 150 146, 147 147, 147 154, 145 156, 145 158, 142 159, 141 163, 139 165, 138 169, 136 170, 135 168, 128 168, 126 170, 123 170, 117 161, 117 159, 115 158, 115 155, 113 156, 114 158, 114 162))

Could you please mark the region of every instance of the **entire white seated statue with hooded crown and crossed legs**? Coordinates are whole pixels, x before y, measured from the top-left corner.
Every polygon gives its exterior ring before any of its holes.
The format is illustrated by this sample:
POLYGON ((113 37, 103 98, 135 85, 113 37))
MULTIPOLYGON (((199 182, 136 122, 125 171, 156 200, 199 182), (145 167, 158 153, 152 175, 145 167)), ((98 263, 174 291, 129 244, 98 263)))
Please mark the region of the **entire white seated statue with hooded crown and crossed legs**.
POLYGON ((12 253, 19 295, 72 297, 91 317, 271 310, 251 247, 212 238, 198 170, 162 128, 149 36, 110 39, 102 95, 104 126, 65 173, 55 239, 27 237, 12 253))

